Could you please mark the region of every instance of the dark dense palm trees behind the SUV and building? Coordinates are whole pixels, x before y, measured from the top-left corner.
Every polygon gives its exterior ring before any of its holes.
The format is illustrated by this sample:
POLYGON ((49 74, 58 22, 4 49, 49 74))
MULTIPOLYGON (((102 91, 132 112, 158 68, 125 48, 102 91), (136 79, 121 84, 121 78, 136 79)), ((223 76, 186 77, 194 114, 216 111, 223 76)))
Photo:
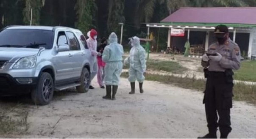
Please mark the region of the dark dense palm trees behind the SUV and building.
MULTIPOLYGON (((75 27, 87 33, 95 28, 99 37, 112 31, 120 36, 124 23, 124 41, 138 35, 145 38, 145 22, 160 22, 179 7, 256 6, 256 0, 0 0, 0 28, 8 25, 75 27)), ((150 29, 159 46, 165 47, 167 29, 150 29)))

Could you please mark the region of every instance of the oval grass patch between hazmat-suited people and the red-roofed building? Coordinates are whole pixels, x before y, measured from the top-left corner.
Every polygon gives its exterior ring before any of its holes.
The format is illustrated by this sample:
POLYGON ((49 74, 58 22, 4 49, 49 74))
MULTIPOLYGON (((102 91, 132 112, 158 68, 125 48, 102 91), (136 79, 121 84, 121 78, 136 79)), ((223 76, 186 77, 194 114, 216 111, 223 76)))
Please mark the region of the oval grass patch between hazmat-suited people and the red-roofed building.
MULTIPOLYGON (((128 68, 129 65, 123 67, 123 69, 128 68)), ((172 72, 173 74, 183 74, 187 70, 177 62, 163 60, 148 60, 147 69, 152 71, 172 72)))

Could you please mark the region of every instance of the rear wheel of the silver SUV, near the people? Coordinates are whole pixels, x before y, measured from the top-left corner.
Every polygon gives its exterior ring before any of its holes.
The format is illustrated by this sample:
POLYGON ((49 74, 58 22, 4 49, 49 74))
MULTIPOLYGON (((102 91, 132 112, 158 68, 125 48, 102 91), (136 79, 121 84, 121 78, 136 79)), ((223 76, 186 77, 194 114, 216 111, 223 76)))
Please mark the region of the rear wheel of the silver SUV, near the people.
POLYGON ((80 78, 81 85, 76 87, 78 93, 86 93, 89 91, 89 87, 91 84, 91 74, 87 68, 83 68, 81 78, 80 78))

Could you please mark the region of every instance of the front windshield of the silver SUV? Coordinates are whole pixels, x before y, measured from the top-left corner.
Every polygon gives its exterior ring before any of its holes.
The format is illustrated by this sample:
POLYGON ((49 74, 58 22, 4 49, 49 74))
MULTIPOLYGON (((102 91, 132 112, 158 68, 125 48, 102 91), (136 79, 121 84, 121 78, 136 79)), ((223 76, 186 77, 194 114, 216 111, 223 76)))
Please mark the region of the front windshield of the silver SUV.
POLYGON ((51 49, 54 32, 51 30, 6 29, 0 33, 0 47, 51 49))

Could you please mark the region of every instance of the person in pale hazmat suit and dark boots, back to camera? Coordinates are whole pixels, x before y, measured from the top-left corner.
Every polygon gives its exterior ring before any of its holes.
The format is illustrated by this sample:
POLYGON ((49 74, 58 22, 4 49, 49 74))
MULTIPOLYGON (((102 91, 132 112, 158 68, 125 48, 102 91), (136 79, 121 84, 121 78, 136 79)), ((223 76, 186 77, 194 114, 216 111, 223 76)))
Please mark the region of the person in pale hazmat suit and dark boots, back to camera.
POLYGON ((116 93, 122 73, 122 56, 124 54, 122 45, 117 43, 117 35, 109 35, 109 45, 105 47, 102 55, 103 62, 106 63, 104 68, 104 84, 106 84, 106 96, 103 99, 116 100, 116 93), (112 87, 112 97, 111 97, 112 87))

